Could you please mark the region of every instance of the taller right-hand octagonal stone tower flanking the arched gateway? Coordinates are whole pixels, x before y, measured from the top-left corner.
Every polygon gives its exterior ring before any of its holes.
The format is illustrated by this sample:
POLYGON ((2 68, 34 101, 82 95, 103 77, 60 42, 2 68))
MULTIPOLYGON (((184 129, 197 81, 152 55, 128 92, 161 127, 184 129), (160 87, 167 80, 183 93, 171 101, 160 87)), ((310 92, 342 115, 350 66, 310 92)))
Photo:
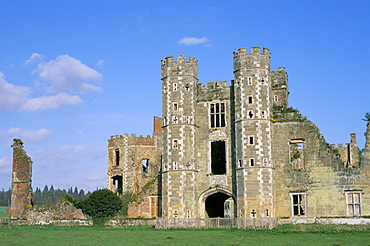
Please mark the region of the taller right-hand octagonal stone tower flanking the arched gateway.
POLYGON ((234 52, 236 196, 239 217, 273 216, 270 52, 234 52))

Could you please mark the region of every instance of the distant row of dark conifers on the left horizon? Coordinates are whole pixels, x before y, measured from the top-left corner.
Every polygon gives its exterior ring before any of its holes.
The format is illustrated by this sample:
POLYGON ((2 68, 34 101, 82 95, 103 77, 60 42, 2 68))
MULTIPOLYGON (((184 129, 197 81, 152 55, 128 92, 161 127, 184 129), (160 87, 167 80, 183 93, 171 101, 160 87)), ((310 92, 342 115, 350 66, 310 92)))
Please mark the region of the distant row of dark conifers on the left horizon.
MULTIPOLYGON (((11 203, 11 194, 12 190, 9 188, 7 191, 2 189, 0 191, 0 206, 10 206, 11 203)), ((88 191, 85 193, 83 189, 69 188, 66 189, 55 189, 53 185, 48 187, 44 186, 44 189, 41 190, 39 187, 36 187, 33 192, 33 204, 36 206, 54 206, 60 199, 63 194, 68 194, 74 197, 76 201, 82 201, 87 198, 91 192, 88 191)))

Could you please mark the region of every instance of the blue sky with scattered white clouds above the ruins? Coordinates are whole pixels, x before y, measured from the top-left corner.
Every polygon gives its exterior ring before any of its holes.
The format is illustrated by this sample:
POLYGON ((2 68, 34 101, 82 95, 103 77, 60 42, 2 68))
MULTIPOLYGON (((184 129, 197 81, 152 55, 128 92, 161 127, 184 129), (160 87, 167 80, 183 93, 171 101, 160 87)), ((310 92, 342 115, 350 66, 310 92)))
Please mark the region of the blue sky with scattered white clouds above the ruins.
POLYGON ((111 135, 152 133, 160 60, 199 61, 199 80, 233 79, 232 52, 267 47, 290 105, 332 144, 370 112, 370 1, 0 1, 0 188, 13 138, 33 186, 106 185, 111 135))

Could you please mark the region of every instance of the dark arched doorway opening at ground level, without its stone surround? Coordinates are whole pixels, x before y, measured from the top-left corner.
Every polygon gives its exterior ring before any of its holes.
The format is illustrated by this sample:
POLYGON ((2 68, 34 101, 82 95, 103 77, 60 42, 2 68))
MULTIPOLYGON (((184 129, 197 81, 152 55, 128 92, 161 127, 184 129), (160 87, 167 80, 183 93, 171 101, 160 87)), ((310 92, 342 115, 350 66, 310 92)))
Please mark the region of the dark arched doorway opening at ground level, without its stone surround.
POLYGON ((230 196, 221 192, 217 192, 207 197, 205 208, 208 218, 228 217, 232 207, 228 200, 229 198, 230 196))

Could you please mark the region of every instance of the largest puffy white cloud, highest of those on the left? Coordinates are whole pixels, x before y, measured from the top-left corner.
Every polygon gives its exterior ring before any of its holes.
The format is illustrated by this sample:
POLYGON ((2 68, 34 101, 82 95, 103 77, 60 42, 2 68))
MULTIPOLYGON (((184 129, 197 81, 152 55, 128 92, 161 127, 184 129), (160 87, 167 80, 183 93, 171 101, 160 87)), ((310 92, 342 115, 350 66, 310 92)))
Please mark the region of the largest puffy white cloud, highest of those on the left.
POLYGON ((60 55, 55 60, 38 64, 37 67, 38 69, 34 73, 50 82, 49 90, 52 92, 102 90, 101 87, 91 84, 92 81, 100 81, 102 74, 69 55, 60 55))

